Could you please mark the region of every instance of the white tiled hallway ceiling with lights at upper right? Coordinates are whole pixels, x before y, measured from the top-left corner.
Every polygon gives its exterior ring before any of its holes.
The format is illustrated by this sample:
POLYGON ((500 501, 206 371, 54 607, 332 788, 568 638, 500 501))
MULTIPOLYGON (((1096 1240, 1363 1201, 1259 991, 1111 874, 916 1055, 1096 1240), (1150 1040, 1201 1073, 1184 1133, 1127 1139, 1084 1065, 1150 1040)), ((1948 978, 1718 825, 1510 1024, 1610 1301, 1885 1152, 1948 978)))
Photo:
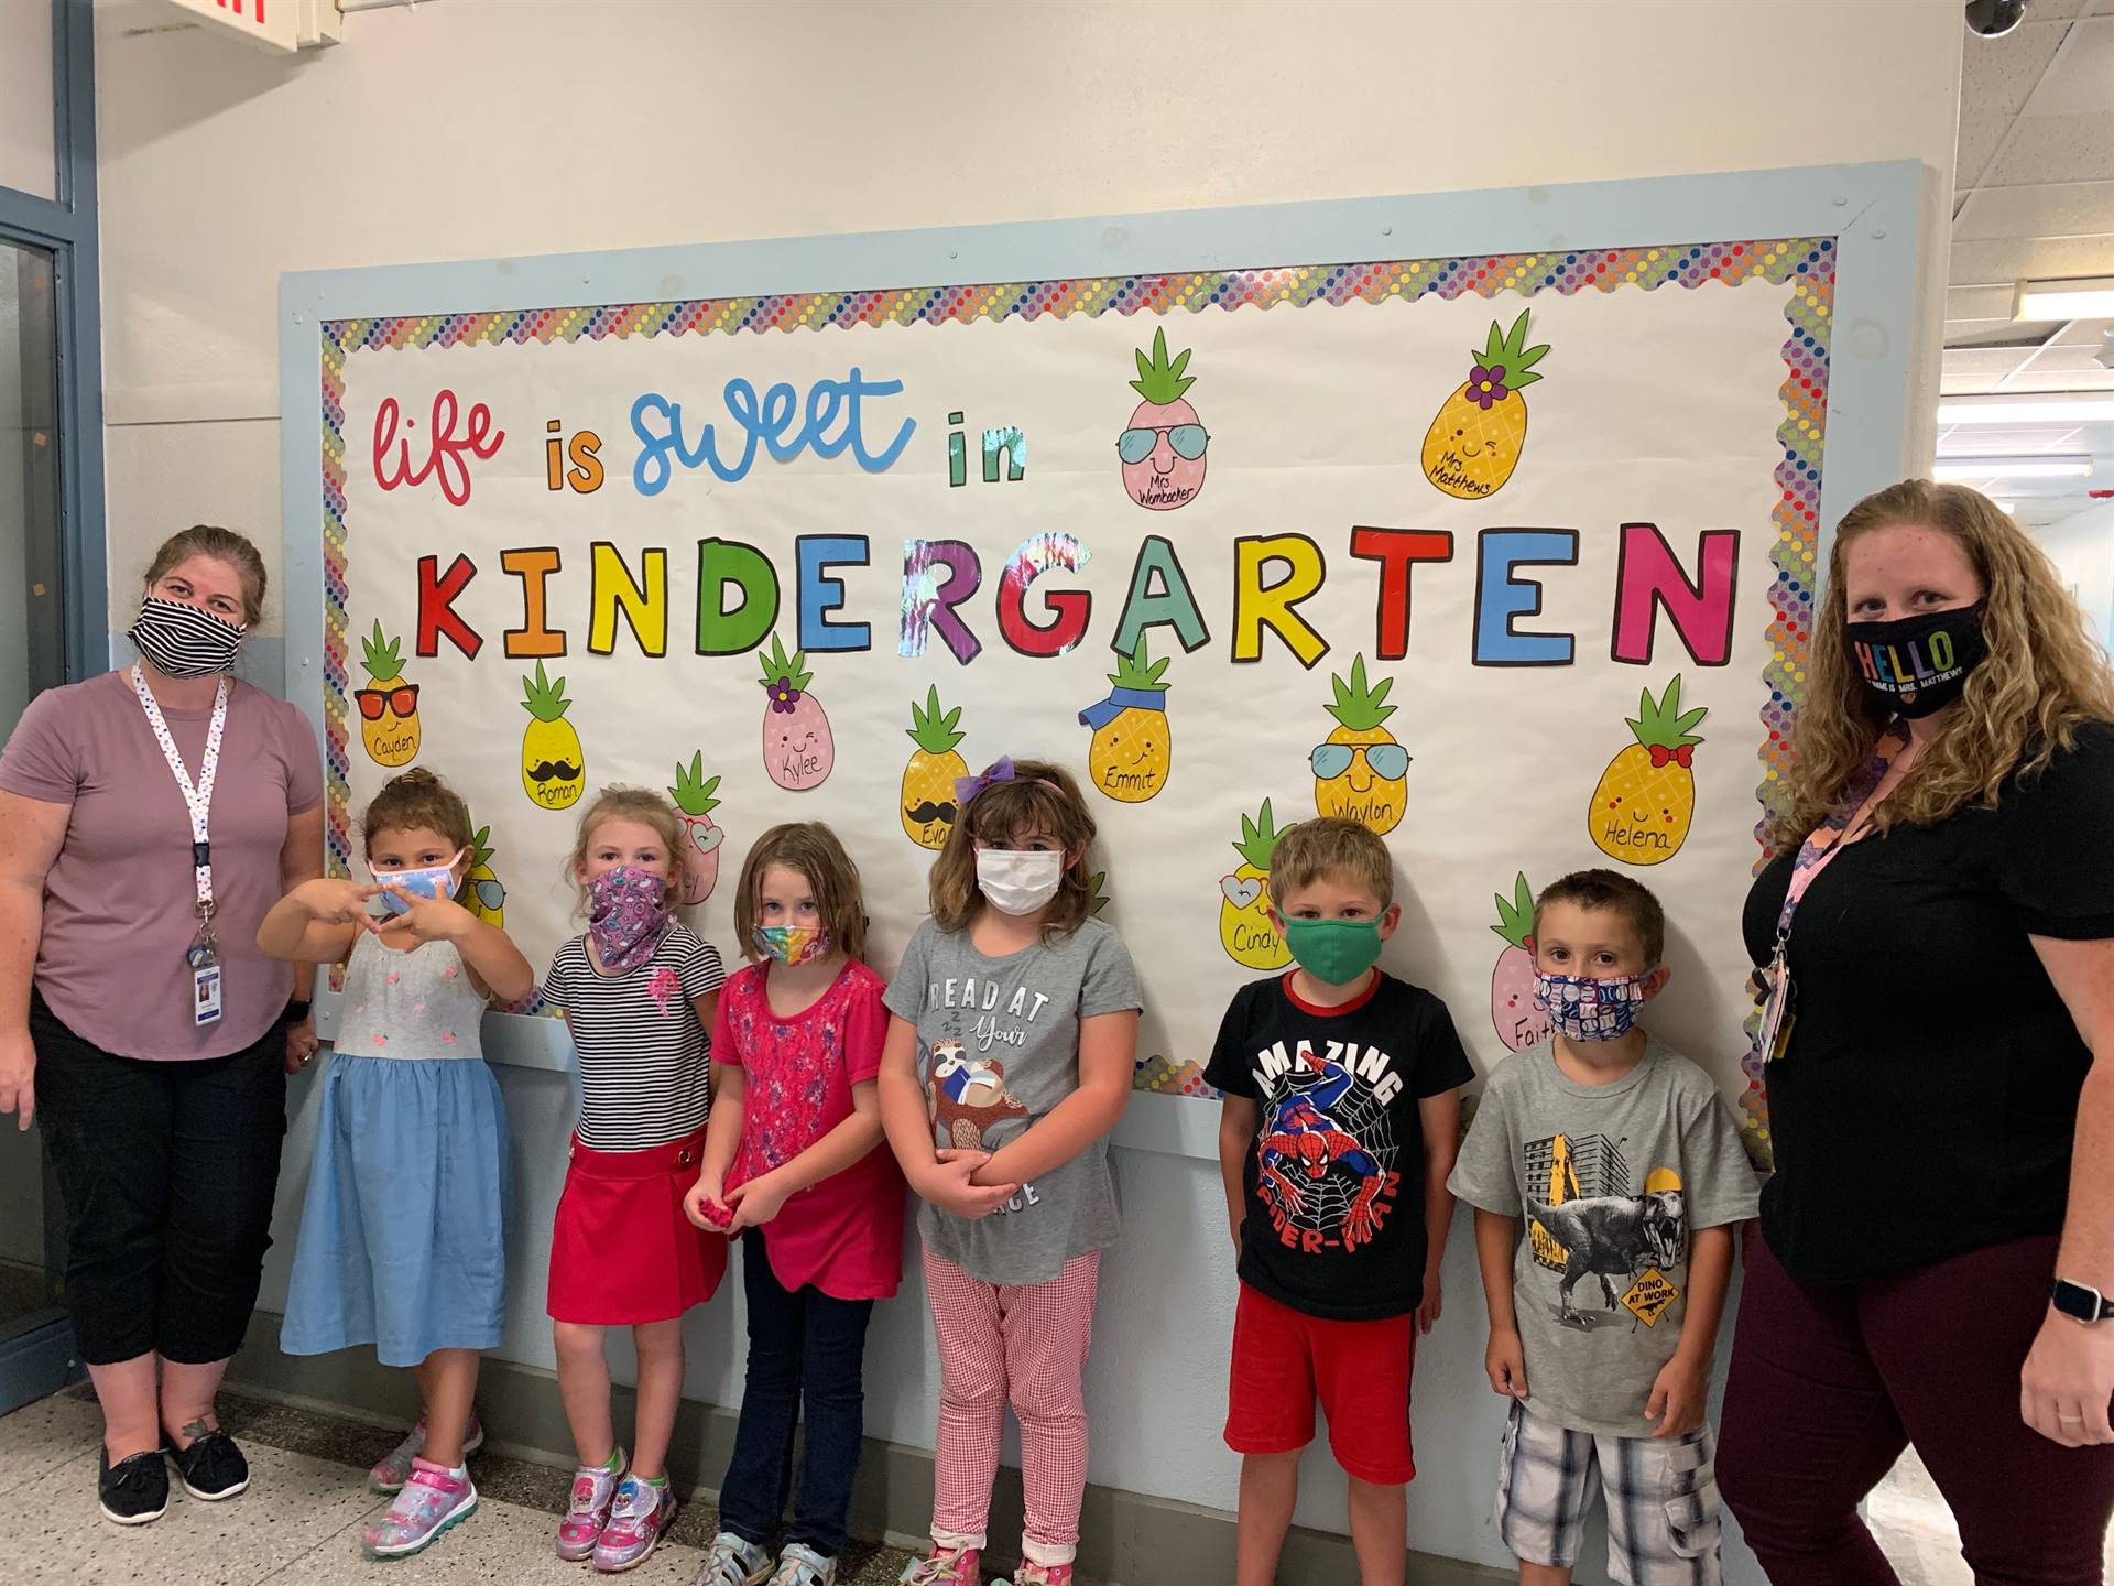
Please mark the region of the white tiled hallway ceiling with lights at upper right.
MULTIPOLYGON (((2027 0, 2004 38, 1968 34, 1960 76, 1945 395, 2114 393, 2097 362, 2110 319, 2013 321, 2025 279, 2114 275, 2114 0, 2027 0)), ((2114 425, 1939 429, 1939 457, 2053 453, 2097 459, 2091 478, 1981 482, 2053 522, 2114 488, 2114 425)))

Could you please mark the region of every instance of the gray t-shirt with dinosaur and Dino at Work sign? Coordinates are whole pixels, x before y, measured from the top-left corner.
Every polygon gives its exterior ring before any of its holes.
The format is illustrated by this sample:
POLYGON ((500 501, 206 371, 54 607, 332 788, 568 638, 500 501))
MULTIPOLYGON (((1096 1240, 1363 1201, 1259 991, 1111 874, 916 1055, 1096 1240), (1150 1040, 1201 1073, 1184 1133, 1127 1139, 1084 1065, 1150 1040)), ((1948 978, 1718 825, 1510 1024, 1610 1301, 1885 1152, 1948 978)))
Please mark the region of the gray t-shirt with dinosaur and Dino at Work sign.
POLYGON ((1490 1074, 1446 1188, 1522 1218, 1512 1303, 1526 1408, 1651 1436, 1645 1400, 1687 1315, 1689 1235, 1757 1212, 1755 1169, 1710 1076, 1657 1040, 1613 1085, 1575 1085, 1552 1043, 1490 1074))

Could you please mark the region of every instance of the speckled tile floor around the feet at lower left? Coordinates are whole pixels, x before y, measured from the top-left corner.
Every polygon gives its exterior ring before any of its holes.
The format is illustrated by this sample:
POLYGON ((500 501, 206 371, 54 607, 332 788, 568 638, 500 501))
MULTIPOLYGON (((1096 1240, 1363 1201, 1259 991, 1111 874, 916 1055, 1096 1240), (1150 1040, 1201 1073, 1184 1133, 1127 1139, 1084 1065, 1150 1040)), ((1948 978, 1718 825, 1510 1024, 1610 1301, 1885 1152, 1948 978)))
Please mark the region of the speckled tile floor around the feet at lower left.
MULTIPOLYGON (((23 1493, 40 1487, 44 1533, 27 1556, 15 1554, 8 1586, 80 1582, 184 1582, 184 1586, 410 1586, 412 1582, 520 1582, 588 1586, 592 1571, 552 1552, 556 1514, 564 1512, 567 1474, 520 1459, 480 1455, 471 1463, 478 1514, 431 1550, 387 1565, 359 1554, 359 1529, 387 1499, 366 1489, 366 1468, 389 1451, 374 1427, 336 1421, 222 1394, 222 1419, 249 1455, 252 1489, 226 1504, 199 1504, 171 1482, 169 1512, 154 1525, 116 1527, 95 1508, 95 1438, 101 1419, 85 1389, 68 1389, 0 1417, 0 1504, 25 1512, 23 1493)), ((668 1539, 626 1580, 638 1586, 689 1586, 704 1565, 710 1504, 691 1504, 668 1539)), ((894 1582, 905 1554, 852 1544, 837 1580, 843 1586, 894 1582)))

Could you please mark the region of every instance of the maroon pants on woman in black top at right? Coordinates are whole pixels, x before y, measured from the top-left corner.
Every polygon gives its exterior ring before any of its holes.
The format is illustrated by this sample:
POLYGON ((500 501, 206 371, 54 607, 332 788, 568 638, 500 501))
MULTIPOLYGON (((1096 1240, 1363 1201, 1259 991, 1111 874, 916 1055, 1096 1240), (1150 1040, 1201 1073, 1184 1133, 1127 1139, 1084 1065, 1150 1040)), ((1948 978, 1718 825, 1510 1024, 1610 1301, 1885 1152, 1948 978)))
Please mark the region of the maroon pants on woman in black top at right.
POLYGON ((2114 1444, 2019 1419, 2053 1271, 2048 1235, 1805 1288, 1748 1237, 1719 1487, 1776 1586, 1898 1586, 1856 1506, 1911 1442, 1981 1586, 2099 1586, 2114 1444))

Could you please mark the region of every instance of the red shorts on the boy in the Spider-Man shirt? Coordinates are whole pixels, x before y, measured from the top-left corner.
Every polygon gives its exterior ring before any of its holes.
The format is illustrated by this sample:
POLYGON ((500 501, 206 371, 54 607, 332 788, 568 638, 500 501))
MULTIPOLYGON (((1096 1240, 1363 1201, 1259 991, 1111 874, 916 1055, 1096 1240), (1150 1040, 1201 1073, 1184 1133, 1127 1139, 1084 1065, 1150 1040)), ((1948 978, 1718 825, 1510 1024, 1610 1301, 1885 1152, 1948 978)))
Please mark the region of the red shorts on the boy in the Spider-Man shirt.
POLYGON ((1241 1284, 1232 1313, 1226 1446, 1292 1453, 1315 1440, 1315 1398, 1345 1474, 1374 1487, 1416 1476, 1410 1457, 1410 1368, 1416 1317, 1323 1322, 1241 1284))

